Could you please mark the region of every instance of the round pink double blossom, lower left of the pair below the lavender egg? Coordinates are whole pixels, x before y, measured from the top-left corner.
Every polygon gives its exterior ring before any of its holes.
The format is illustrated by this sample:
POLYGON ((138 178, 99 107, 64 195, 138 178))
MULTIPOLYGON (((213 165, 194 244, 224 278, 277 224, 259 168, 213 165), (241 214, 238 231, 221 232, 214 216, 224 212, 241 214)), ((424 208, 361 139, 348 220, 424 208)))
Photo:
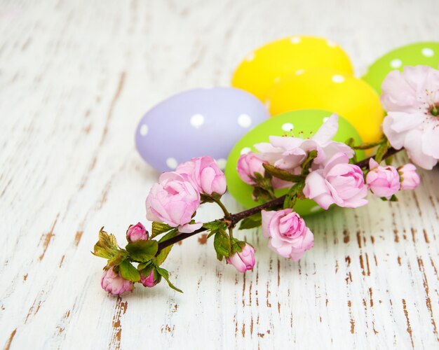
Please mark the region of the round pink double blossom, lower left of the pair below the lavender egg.
POLYGON ((182 174, 166 172, 149 191, 146 206, 148 220, 188 228, 200 206, 200 193, 182 174))

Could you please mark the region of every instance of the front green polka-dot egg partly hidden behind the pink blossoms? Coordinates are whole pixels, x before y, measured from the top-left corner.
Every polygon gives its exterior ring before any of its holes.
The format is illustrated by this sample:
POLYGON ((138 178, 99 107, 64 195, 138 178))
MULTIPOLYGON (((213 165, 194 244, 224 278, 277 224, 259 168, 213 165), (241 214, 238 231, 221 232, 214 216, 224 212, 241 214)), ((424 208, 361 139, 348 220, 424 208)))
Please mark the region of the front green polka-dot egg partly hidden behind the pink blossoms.
MULTIPOLYGON (((252 200, 253 187, 244 183, 238 176, 236 165, 238 158, 243 153, 256 151, 253 147, 255 144, 261 142, 269 142, 270 136, 295 136, 306 138, 315 133, 320 126, 325 122, 326 118, 330 117, 332 112, 319 110, 304 110, 291 111, 283 113, 276 118, 270 118, 264 123, 257 125, 250 132, 240 139, 229 154, 226 166, 227 188, 229 193, 246 208, 252 208, 263 202, 255 202, 252 200), (300 135, 300 136, 299 136, 300 135), (303 135, 303 136, 302 136, 303 135)), ((355 128, 344 118, 339 117, 339 129, 334 137, 335 141, 344 142, 350 137, 355 139, 356 144, 361 143, 361 138, 355 128)), ((357 151, 358 159, 364 158, 363 151, 357 151)), ((276 196, 285 195, 288 188, 276 190, 276 196)), ((321 211, 320 207, 313 200, 298 200, 295 205, 295 211, 299 215, 305 216, 321 211)))

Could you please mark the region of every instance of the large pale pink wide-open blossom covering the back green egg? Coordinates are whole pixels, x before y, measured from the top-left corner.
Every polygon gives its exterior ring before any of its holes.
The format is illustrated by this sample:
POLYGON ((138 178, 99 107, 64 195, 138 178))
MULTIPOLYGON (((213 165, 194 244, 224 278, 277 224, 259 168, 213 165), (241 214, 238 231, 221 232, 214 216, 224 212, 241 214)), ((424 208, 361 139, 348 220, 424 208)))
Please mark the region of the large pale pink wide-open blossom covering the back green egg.
POLYGON ((382 85, 387 111, 383 131, 393 148, 405 148, 419 167, 432 169, 439 159, 439 71, 405 66, 391 71, 382 85))

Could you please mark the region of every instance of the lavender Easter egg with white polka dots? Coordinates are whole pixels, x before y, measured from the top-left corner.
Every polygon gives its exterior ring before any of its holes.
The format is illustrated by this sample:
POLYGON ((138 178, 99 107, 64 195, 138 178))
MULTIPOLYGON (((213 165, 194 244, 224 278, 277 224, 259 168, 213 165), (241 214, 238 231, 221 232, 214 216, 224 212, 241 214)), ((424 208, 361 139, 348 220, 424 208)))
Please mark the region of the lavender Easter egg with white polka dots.
POLYGON ((234 87, 188 90, 143 116, 135 144, 145 162, 160 172, 203 155, 224 167, 236 141, 267 118, 265 106, 246 91, 234 87))

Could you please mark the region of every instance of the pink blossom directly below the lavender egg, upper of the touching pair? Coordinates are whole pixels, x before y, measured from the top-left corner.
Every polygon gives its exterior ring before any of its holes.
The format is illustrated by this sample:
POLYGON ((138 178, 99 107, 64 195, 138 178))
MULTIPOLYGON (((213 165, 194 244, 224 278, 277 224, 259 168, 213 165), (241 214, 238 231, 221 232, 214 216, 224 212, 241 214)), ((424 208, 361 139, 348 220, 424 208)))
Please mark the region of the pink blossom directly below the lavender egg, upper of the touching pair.
POLYGON ((212 157, 192 158, 179 165, 175 172, 192 181, 200 193, 224 195, 227 190, 226 176, 212 157))

